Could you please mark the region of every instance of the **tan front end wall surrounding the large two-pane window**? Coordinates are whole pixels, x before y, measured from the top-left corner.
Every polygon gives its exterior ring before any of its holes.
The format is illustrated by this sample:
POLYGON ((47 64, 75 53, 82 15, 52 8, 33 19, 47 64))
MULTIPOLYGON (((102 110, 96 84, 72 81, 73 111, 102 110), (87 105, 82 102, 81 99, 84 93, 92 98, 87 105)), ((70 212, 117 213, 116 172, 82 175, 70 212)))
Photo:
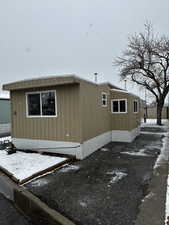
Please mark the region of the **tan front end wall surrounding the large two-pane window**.
POLYGON ((80 142, 79 85, 11 91, 12 137, 80 142), (27 118, 26 92, 56 90, 57 117, 27 118))

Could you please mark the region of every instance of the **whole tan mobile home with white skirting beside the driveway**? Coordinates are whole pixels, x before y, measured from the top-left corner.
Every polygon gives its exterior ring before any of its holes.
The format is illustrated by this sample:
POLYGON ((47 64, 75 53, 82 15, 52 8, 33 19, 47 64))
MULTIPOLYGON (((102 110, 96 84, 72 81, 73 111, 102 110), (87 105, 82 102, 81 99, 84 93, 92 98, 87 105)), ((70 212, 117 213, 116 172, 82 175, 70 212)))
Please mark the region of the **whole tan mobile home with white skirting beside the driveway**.
POLYGON ((111 141, 139 134, 139 98, 110 83, 77 76, 6 84, 12 108, 12 138, 19 149, 57 152, 83 159, 111 141))

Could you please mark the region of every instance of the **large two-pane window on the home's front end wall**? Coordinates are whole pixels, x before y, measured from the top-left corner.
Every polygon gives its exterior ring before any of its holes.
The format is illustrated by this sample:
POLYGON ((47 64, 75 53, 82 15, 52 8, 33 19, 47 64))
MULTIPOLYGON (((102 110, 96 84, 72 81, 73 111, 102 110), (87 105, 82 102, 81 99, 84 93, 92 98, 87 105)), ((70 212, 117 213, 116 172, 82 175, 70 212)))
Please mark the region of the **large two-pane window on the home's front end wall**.
POLYGON ((56 116, 56 92, 42 91, 26 94, 28 117, 56 116))

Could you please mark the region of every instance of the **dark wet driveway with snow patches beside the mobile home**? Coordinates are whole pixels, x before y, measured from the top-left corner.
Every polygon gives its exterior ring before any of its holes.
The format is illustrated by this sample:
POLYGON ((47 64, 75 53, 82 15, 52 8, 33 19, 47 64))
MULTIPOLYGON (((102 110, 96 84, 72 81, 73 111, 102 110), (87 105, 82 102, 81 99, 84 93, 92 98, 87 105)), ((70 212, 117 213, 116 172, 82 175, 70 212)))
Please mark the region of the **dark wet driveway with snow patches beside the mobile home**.
POLYGON ((147 131, 133 143, 110 143, 25 187, 77 225, 134 225, 162 147, 163 135, 147 131))

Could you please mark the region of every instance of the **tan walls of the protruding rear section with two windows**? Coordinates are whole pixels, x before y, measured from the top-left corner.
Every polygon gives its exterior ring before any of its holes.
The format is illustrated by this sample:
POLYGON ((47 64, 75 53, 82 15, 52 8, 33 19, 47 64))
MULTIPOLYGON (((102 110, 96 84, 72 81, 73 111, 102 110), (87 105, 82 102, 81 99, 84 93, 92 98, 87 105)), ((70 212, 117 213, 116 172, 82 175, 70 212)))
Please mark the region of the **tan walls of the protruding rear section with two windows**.
POLYGON ((112 113, 111 114, 111 128, 112 130, 133 130, 140 126, 141 112, 134 113, 134 100, 138 101, 139 98, 132 96, 125 92, 112 91, 111 99, 127 99, 127 113, 112 113))

